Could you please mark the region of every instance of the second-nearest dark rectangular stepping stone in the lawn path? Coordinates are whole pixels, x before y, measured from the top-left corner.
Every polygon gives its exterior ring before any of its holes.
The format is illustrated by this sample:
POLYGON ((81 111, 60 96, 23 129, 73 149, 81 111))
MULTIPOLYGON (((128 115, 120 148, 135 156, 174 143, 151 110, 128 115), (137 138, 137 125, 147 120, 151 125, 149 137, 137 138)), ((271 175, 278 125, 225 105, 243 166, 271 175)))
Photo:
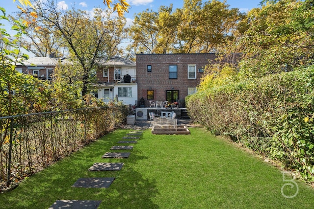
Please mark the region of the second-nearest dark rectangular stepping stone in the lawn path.
POLYGON ((114 177, 110 178, 80 178, 72 187, 83 188, 109 188, 114 177))

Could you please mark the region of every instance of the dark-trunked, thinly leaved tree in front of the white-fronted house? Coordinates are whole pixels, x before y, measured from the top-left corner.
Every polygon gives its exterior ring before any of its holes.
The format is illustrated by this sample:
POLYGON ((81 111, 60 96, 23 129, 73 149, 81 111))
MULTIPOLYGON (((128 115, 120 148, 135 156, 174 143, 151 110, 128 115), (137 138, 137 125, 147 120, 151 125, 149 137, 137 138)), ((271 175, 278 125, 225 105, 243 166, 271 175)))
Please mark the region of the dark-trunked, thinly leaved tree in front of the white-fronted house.
POLYGON ((58 11, 53 0, 34 5, 37 11, 37 23, 43 28, 52 28, 54 37, 69 50, 70 57, 78 62, 82 73, 82 95, 87 93, 89 76, 98 59, 108 58, 118 51, 125 37, 124 18, 116 18, 111 10, 94 9, 93 17, 86 11, 58 11))

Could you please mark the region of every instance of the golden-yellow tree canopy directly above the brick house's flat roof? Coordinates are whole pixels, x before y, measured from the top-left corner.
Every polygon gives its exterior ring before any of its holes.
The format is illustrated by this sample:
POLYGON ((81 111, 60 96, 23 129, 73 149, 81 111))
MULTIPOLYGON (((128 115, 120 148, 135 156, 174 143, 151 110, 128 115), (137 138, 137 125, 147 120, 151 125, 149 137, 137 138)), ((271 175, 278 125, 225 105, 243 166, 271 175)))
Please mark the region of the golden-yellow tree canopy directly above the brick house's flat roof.
POLYGON ((135 15, 130 28, 131 47, 146 53, 208 53, 232 40, 243 14, 218 0, 184 0, 173 11, 161 6, 157 12, 135 15))

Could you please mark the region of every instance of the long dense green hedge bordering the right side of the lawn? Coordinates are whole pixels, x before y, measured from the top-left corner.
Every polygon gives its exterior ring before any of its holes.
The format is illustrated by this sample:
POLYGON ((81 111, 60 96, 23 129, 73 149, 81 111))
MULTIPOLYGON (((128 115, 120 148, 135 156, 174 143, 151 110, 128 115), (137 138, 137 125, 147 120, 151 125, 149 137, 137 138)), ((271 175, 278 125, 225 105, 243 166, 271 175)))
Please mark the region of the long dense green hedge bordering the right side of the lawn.
POLYGON ((190 117, 314 181, 314 66, 198 92, 190 117))

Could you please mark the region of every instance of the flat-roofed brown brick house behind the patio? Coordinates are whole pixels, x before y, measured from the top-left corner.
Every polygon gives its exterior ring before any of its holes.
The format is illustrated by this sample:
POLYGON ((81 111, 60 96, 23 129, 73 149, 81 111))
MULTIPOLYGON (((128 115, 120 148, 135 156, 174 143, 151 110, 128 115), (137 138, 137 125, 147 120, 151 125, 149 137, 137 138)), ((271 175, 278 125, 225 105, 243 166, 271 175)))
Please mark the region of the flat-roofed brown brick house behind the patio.
POLYGON ((216 58, 215 53, 136 54, 138 98, 178 101, 184 107, 185 97, 196 92, 204 67, 209 61, 217 63, 216 58))

